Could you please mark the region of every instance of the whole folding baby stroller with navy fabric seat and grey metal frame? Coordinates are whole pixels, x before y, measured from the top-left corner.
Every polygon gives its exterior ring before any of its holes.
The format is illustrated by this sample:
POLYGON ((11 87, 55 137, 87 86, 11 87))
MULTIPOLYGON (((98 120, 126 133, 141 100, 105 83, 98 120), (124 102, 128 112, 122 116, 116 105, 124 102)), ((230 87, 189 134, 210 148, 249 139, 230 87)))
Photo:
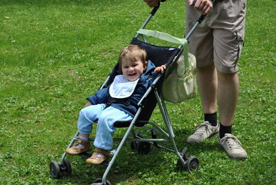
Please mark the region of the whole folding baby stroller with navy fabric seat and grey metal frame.
MULTIPOLYGON (((140 46, 141 48, 144 48, 146 50, 148 59, 152 61, 155 66, 161 66, 163 64, 166 64, 166 72, 160 73, 156 79, 152 82, 152 86, 148 88, 145 95, 141 98, 141 100, 138 103, 139 109, 137 110, 137 113, 133 117, 131 121, 117 121, 115 122, 114 126, 116 128, 123 128, 127 127, 126 133, 123 138, 113 138, 114 142, 120 142, 119 146, 117 146, 114 150, 110 152, 110 155, 112 155, 112 158, 109 162, 105 161, 103 162, 103 165, 106 165, 106 171, 103 174, 103 177, 95 179, 95 181, 92 184, 110 184, 108 179, 106 179, 110 168, 112 167, 112 164, 115 162, 115 159, 117 155, 119 154, 119 151, 121 150, 121 147, 125 144, 125 142, 130 142, 130 147, 132 149, 137 150, 139 153, 149 153, 150 146, 155 146, 157 148, 161 148, 164 150, 168 150, 172 153, 175 153, 177 157, 179 158, 177 161, 177 166, 180 168, 183 168, 189 172, 197 171, 199 168, 199 159, 197 157, 189 156, 186 154, 187 148, 184 148, 181 152, 177 149, 177 146, 175 144, 175 134, 172 129, 172 125, 170 124, 170 119, 168 116, 168 112, 166 109, 166 104, 164 101, 164 97, 161 92, 162 88, 162 82, 164 80, 164 77, 166 77, 166 73, 170 72, 172 66, 176 63, 176 61, 179 59, 179 57, 182 55, 183 52, 187 52, 186 46, 188 44, 187 37, 195 30, 191 30, 189 35, 186 37, 186 39, 182 39, 180 41, 180 46, 178 48, 175 47, 167 47, 167 46, 155 46, 150 43, 146 42, 145 35, 141 34, 143 32, 146 24, 148 21, 150 21, 150 18, 154 16, 155 12, 158 10, 159 6, 153 8, 153 10, 150 12, 150 16, 148 19, 146 19, 144 25, 141 27, 141 30, 135 35, 135 37, 132 39, 131 44, 135 44, 140 46), (143 37, 143 41, 139 40, 139 37, 143 37), (158 104, 161 115, 164 120, 164 124, 166 126, 166 129, 162 129, 157 124, 155 124, 152 121, 149 121, 153 110, 155 109, 155 106, 158 104), (147 126, 146 126, 147 125, 147 126), (148 126, 150 125, 150 126, 148 126), (150 130, 150 133, 152 135, 152 138, 146 139, 141 137, 140 130, 136 129, 146 129, 150 130), (136 130, 135 130, 136 129, 136 130), (130 133, 132 133, 132 138, 130 138, 130 133), (162 135, 164 139, 157 138, 158 135, 162 135), (171 148, 166 148, 164 146, 161 146, 160 142, 170 142, 172 145, 171 148)), ((196 26, 200 20, 196 23, 196 26)), ((164 35, 163 35, 164 36, 164 35)), ((166 38, 161 38, 166 39, 166 38)), ((112 83, 113 79, 116 75, 119 75, 120 72, 118 70, 119 64, 117 63, 115 67, 112 69, 112 72, 110 72, 110 75, 104 81, 104 83, 101 85, 101 88, 107 87, 109 84, 112 83)), ((79 139, 79 132, 75 134, 75 136, 72 138, 70 144, 68 145, 68 148, 72 146, 72 144, 79 139)), ((90 138, 90 141, 94 141, 95 138, 90 138)), ((81 153, 81 157, 88 158, 91 155, 88 153, 81 153)), ((70 165, 70 162, 68 159, 66 159, 66 153, 63 153, 60 162, 52 161, 50 162, 50 174, 53 178, 59 179, 61 175, 69 176, 72 172, 72 168, 70 165)))

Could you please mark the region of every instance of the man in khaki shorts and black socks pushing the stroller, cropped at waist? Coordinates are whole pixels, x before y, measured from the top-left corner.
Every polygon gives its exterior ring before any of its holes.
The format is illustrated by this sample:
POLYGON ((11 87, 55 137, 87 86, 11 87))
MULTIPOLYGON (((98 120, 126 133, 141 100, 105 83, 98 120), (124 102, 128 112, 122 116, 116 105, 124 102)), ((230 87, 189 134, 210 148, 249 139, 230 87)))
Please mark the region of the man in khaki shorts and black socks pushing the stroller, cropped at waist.
MULTIPOLYGON (((144 0, 157 6, 159 0, 144 0)), ((197 58, 197 84, 204 109, 204 123, 187 142, 203 142, 219 131, 219 146, 235 159, 247 153, 232 135, 232 125, 239 94, 237 61, 244 39, 246 0, 186 1, 186 34, 200 14, 206 14, 190 37, 188 51, 197 58), (217 121, 217 100, 220 121, 217 121)))

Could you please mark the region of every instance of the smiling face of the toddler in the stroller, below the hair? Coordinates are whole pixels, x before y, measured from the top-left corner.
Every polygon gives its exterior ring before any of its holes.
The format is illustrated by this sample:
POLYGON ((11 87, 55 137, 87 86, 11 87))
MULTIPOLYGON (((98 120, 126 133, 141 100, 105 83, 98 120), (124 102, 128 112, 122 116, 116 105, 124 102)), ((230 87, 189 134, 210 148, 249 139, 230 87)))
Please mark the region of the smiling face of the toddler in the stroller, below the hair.
POLYGON ((146 70, 143 61, 138 59, 137 61, 124 60, 121 64, 121 71, 123 72, 124 77, 129 81, 137 80, 146 70))

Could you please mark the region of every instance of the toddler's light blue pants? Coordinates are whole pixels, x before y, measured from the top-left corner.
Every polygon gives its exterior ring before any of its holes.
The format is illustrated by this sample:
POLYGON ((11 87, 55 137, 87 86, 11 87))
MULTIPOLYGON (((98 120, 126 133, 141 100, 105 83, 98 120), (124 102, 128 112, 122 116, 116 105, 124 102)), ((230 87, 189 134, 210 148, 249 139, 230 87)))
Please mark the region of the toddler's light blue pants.
POLYGON ((81 109, 77 126, 79 133, 90 134, 92 131, 92 122, 98 120, 94 145, 103 150, 111 150, 113 146, 112 135, 116 131, 113 124, 115 121, 126 121, 130 119, 132 117, 124 111, 111 106, 106 108, 106 104, 97 104, 81 109))

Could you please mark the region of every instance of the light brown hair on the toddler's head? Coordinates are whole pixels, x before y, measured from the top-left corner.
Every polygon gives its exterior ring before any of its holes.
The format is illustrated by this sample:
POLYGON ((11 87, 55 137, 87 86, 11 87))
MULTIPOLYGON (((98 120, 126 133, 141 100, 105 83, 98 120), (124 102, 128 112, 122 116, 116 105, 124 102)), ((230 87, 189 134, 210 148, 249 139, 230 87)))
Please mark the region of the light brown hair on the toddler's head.
POLYGON ((144 67, 148 65, 146 51, 140 46, 130 44, 121 50, 119 55, 119 70, 121 70, 121 63, 125 60, 137 61, 141 60, 144 67))

